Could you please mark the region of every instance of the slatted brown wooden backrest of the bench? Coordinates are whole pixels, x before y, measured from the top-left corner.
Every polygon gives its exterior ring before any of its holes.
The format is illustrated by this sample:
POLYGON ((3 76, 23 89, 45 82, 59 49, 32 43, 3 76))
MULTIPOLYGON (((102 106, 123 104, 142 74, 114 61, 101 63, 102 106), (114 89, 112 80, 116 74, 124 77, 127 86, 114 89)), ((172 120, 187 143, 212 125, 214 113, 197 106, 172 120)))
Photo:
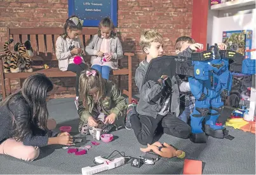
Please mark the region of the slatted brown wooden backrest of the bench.
MULTIPOLYGON (((79 38, 83 45, 87 45, 91 37, 98 31, 96 27, 84 27, 79 38)), ((13 38, 11 48, 17 42, 30 40, 37 56, 44 60, 57 60, 55 56, 56 40, 64 33, 63 28, 9 28, 9 35, 13 38)))

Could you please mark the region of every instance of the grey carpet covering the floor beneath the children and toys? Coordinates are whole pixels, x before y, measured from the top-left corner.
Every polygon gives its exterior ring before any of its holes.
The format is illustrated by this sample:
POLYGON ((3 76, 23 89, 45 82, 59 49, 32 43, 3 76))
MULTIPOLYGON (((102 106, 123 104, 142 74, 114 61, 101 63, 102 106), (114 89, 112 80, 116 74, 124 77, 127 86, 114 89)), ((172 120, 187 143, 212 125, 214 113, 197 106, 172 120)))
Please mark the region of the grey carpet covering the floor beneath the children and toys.
MULTIPOLYGON (((77 133, 79 119, 74 99, 50 100, 48 107, 50 116, 57 120, 58 127, 69 124, 72 126, 72 134, 77 133)), ((255 135, 228 129, 235 137, 232 141, 210 137, 206 144, 194 144, 189 140, 163 135, 160 142, 171 143, 184 150, 186 159, 203 161, 203 174, 255 174, 255 135)), ((33 162, 0 155, 0 174, 81 174, 82 167, 93 166, 94 157, 108 156, 114 150, 132 157, 142 155, 142 145, 137 142, 132 130, 121 129, 112 133, 115 136, 112 142, 99 141, 100 145, 92 146, 88 154, 81 156, 67 154, 67 150, 60 146, 41 148, 39 158, 33 162)), ((90 140, 91 136, 87 136, 81 145, 91 145, 90 140)), ((101 174, 182 174, 183 164, 184 159, 160 159, 154 166, 144 164, 138 169, 126 164, 101 174)))

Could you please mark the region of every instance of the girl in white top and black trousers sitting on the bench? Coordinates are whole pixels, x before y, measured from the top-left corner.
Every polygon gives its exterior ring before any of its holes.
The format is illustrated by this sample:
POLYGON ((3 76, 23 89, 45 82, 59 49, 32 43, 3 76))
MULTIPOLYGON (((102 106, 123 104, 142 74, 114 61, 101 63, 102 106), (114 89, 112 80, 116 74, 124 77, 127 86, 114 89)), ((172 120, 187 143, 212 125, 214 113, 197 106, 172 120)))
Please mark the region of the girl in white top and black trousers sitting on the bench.
POLYGON ((84 53, 84 46, 78 37, 82 33, 82 29, 83 20, 80 20, 77 16, 71 16, 65 22, 64 34, 60 35, 56 41, 58 67, 61 71, 72 71, 76 73, 76 107, 78 106, 77 99, 79 96, 79 76, 81 71, 88 68, 83 57, 81 57, 81 64, 74 64, 74 57, 81 56, 84 53))

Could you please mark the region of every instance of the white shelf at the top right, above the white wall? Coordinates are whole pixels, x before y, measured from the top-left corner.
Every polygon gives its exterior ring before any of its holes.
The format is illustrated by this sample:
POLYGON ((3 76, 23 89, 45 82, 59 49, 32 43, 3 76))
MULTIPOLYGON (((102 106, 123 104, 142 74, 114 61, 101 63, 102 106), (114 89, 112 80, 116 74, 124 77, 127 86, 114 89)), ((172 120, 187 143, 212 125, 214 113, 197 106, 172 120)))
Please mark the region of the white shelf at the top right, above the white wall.
POLYGON ((255 5, 255 0, 236 0, 236 1, 230 1, 227 3, 212 5, 211 9, 224 10, 224 9, 240 8, 240 7, 251 6, 251 5, 255 5))

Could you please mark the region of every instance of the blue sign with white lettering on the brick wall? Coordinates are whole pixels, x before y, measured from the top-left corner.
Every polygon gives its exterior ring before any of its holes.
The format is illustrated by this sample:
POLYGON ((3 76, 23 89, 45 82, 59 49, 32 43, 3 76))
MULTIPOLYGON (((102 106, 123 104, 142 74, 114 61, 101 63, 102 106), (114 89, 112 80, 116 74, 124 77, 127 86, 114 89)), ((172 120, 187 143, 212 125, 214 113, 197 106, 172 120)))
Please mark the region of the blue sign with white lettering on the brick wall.
POLYGON ((69 0, 69 16, 76 15, 84 20, 84 27, 98 27, 105 17, 110 17, 117 27, 117 11, 117 0, 69 0))

